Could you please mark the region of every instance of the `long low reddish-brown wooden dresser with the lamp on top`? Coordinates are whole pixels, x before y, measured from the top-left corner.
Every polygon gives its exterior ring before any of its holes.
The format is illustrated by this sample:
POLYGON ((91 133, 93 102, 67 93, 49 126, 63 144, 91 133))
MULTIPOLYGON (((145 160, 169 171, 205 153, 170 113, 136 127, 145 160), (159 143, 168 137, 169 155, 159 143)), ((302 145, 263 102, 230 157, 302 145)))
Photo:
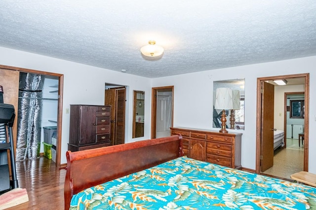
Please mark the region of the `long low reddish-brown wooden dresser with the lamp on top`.
POLYGON ((181 134, 183 151, 188 157, 210 163, 241 168, 242 133, 219 133, 218 131, 172 127, 171 135, 181 134))

